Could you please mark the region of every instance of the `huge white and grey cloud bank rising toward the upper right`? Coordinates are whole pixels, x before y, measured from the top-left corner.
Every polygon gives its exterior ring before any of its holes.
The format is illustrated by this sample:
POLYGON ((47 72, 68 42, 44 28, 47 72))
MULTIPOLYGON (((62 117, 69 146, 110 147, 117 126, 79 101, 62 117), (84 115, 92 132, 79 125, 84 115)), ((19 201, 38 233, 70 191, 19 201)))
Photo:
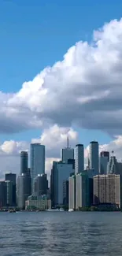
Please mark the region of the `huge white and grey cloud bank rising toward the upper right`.
POLYGON ((57 124, 121 134, 122 19, 79 41, 15 94, 0 94, 0 131, 57 124), (117 124, 117 125, 116 125, 117 124))

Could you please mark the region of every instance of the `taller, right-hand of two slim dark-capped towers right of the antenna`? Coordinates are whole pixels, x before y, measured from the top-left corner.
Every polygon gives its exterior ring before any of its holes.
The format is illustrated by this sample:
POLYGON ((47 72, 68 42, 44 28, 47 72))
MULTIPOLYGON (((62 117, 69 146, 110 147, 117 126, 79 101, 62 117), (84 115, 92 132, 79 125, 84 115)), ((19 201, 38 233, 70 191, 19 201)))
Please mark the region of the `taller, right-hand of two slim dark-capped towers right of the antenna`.
POLYGON ((98 142, 91 141, 90 143, 90 169, 94 169, 94 172, 99 173, 99 156, 98 156, 98 142))

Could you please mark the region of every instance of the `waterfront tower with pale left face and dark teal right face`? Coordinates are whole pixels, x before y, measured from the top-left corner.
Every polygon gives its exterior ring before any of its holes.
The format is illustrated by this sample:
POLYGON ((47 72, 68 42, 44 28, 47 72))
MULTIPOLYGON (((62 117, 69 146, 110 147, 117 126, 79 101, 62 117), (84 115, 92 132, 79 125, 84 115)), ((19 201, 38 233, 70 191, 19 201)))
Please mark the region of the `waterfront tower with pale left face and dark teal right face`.
POLYGON ((76 175, 76 210, 90 205, 89 178, 86 172, 76 175))

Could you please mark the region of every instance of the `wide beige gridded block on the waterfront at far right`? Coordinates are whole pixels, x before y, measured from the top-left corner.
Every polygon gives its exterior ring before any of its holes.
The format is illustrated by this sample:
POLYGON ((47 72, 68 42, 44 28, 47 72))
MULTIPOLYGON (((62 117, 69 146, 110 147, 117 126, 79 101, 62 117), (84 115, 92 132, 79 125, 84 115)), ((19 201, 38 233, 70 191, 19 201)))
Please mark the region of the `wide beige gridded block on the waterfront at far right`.
POLYGON ((110 204, 121 208, 121 191, 120 175, 94 176, 94 205, 110 204))

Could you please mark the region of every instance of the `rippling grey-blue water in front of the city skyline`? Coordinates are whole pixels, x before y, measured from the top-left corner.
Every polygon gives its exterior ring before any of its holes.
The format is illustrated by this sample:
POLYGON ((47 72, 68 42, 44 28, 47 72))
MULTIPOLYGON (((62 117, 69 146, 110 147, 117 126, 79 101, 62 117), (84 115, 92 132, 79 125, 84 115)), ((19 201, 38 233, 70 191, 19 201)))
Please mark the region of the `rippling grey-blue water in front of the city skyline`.
POLYGON ((122 213, 0 213, 0 256, 121 256, 122 213))

